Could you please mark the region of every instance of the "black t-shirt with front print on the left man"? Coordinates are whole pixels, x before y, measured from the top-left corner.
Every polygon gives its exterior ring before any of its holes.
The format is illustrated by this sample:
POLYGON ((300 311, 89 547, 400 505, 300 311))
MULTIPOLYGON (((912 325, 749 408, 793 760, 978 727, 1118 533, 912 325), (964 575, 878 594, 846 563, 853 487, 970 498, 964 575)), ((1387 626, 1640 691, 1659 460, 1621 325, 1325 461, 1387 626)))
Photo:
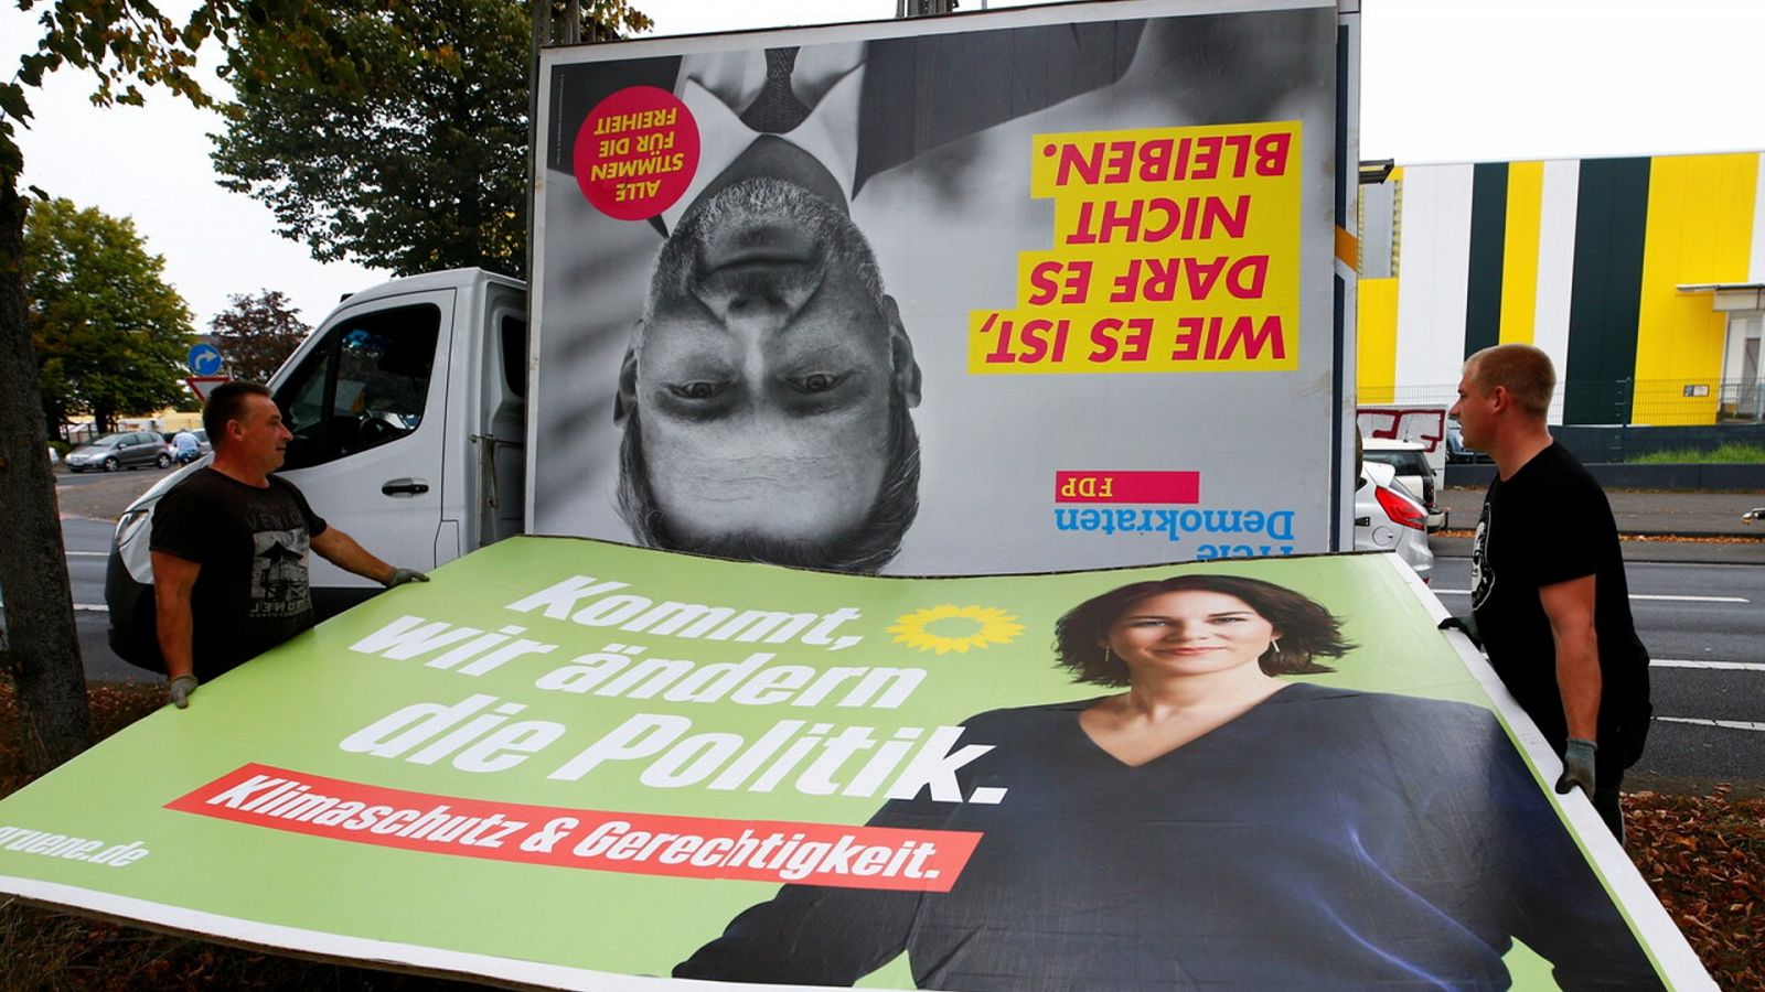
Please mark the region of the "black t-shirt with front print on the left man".
POLYGON ((325 521, 291 482, 259 489, 203 468, 154 508, 152 549, 201 565, 192 660, 207 681, 312 627, 307 549, 325 521))

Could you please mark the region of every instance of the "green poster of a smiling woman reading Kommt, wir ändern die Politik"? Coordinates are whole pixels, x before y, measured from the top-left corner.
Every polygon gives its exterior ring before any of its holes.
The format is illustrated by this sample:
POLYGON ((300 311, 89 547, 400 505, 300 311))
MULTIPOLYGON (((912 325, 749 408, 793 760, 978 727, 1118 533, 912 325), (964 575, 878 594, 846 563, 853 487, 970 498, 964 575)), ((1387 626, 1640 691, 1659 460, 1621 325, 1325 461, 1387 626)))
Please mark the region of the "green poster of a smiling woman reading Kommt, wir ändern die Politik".
POLYGON ((1437 612, 512 538, 0 801, 0 890, 597 990, 1707 985, 1437 612))

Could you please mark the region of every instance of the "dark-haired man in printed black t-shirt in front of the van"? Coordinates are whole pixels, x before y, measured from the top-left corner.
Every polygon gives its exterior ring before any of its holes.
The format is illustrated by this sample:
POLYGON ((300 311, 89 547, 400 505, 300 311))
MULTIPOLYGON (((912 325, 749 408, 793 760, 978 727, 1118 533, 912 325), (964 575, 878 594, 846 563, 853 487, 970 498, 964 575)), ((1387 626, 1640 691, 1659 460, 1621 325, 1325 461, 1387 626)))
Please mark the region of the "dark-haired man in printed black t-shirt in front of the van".
POLYGON ((394 568, 327 526, 291 482, 272 478, 288 440, 270 390, 226 383, 203 427, 214 464, 154 510, 154 602, 171 701, 312 627, 307 551, 383 586, 429 577, 394 568))

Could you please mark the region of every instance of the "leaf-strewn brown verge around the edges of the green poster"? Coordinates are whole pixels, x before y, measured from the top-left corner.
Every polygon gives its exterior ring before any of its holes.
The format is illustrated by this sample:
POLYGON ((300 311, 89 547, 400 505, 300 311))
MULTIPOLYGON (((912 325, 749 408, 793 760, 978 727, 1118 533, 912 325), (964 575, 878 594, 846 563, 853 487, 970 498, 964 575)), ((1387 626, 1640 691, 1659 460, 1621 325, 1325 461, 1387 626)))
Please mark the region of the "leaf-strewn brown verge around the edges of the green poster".
MULTIPOLYGON (((99 736, 152 713, 154 685, 90 685, 99 736)), ((26 784, 18 766, 12 687, 0 680, 0 796, 26 784)), ((1631 793, 1627 849, 1717 985, 1765 992, 1765 800, 1631 793)), ((0 897, 0 992, 25 990, 337 990, 469 988, 464 983, 319 964, 171 937, 0 897)))

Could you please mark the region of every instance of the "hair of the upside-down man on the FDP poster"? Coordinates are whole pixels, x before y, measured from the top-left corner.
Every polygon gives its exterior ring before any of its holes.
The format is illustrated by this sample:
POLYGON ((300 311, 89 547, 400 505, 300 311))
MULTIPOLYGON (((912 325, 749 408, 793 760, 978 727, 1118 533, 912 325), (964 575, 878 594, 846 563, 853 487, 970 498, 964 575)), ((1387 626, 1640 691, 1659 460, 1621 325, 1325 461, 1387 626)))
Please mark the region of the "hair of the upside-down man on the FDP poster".
POLYGON ((634 408, 620 441, 620 515, 644 547, 870 575, 900 552, 900 540, 920 514, 920 434, 913 427, 907 397, 898 388, 890 390, 886 466, 870 514, 858 526, 822 538, 777 538, 752 531, 678 537, 650 485, 641 420, 634 408))

